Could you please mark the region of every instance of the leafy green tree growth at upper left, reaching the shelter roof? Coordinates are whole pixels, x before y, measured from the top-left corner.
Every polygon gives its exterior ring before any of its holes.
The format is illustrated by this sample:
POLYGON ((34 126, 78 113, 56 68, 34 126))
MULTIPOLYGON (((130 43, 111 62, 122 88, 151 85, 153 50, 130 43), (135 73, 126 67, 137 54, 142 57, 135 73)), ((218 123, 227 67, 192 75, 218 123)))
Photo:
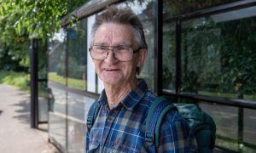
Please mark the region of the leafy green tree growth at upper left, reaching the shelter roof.
POLYGON ((61 18, 85 2, 0 0, 0 59, 8 54, 10 60, 28 67, 31 37, 50 39, 61 28, 61 18))

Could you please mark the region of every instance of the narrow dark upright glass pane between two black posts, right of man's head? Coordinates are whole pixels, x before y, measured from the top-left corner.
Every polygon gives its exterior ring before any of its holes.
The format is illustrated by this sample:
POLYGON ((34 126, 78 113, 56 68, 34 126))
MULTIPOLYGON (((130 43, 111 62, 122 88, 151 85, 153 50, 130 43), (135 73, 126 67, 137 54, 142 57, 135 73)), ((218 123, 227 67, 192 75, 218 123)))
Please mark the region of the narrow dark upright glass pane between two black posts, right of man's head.
POLYGON ((164 89, 175 92, 176 87, 176 28, 175 24, 163 24, 163 80, 164 89))

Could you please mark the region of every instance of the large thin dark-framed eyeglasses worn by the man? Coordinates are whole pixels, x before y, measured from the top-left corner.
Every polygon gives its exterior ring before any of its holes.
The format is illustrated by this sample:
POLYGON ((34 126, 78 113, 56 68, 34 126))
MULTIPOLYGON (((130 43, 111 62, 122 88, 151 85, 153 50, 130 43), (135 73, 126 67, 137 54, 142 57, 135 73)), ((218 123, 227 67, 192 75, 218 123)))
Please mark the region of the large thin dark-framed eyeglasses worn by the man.
POLYGON ((141 48, 133 50, 132 48, 124 46, 100 46, 93 45, 89 48, 92 59, 103 60, 108 57, 109 50, 113 51, 113 56, 119 61, 130 61, 133 54, 136 54, 141 48), (112 48, 112 49, 111 49, 112 48))

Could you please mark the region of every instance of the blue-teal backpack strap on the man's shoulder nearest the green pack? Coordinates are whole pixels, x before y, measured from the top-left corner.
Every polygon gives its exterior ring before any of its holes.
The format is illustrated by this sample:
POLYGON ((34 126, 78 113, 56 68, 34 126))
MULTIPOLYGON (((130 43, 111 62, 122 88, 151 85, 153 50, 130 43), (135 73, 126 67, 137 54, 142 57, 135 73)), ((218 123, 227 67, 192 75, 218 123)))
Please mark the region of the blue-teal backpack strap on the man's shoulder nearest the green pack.
POLYGON ((145 141, 148 144, 150 152, 156 152, 160 144, 160 124, 164 119, 166 112, 176 110, 175 105, 164 97, 157 97, 149 108, 146 118, 145 141))

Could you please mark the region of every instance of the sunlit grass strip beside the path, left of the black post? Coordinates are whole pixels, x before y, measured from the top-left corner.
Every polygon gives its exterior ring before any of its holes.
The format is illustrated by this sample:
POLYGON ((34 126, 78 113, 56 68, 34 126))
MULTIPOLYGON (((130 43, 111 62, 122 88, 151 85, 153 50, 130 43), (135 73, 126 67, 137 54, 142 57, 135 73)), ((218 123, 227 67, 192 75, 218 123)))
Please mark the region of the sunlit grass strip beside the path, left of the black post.
POLYGON ((0 71, 0 83, 15 86, 22 91, 30 90, 30 74, 16 71, 0 71))

